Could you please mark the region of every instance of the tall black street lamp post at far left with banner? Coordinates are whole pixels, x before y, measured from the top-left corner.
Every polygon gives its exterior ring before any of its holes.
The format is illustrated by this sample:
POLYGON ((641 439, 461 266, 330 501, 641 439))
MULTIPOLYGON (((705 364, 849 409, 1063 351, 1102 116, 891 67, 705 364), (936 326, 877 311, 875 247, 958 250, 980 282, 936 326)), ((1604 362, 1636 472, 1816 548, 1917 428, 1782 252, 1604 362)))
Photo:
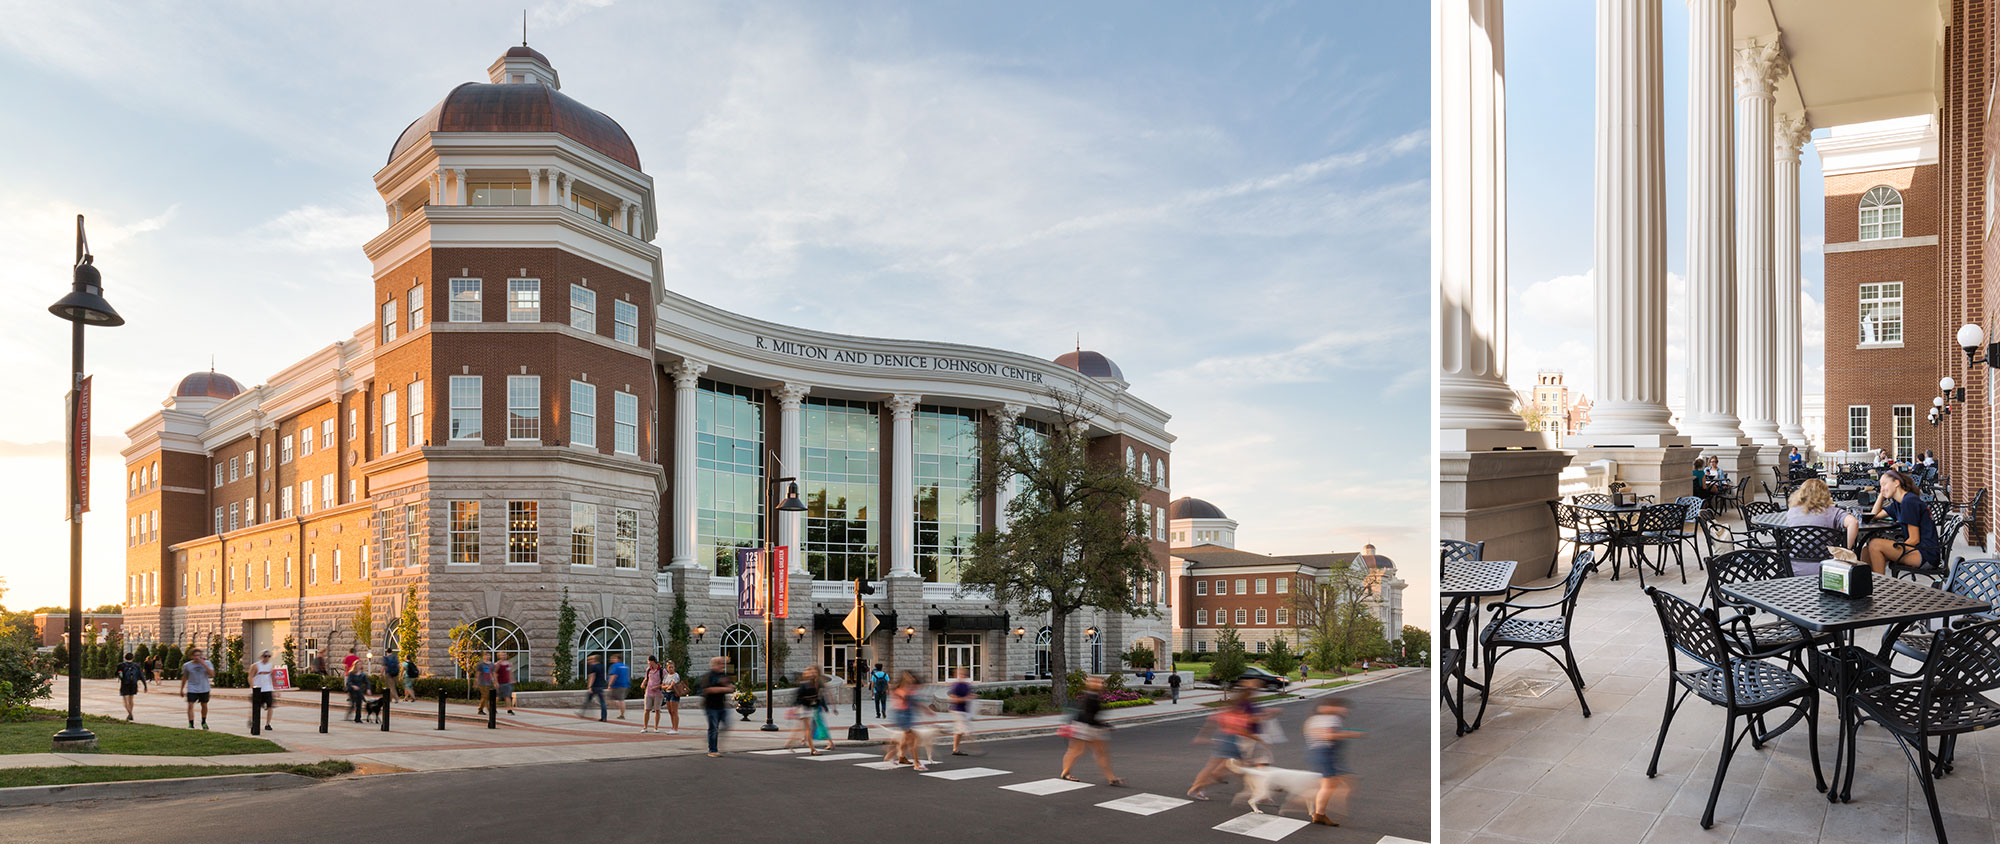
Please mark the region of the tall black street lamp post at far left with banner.
POLYGON ((84 730, 84 508, 90 506, 84 474, 90 470, 90 408, 84 396, 84 326, 122 326, 124 316, 104 300, 104 276, 98 274, 84 238, 84 216, 76 214, 76 264, 70 268, 70 294, 48 306, 50 314, 70 320, 70 720, 54 736, 54 750, 90 750, 98 736, 84 730))

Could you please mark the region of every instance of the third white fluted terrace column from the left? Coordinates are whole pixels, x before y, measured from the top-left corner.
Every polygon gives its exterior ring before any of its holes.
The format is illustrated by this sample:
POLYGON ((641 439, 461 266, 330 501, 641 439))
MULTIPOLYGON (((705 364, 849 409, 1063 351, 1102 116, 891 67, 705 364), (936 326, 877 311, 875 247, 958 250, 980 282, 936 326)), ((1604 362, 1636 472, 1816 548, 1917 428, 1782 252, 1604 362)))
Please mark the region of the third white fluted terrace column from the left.
POLYGON ((1738 446, 1732 0, 1688 0, 1688 398, 1680 430, 1738 446))

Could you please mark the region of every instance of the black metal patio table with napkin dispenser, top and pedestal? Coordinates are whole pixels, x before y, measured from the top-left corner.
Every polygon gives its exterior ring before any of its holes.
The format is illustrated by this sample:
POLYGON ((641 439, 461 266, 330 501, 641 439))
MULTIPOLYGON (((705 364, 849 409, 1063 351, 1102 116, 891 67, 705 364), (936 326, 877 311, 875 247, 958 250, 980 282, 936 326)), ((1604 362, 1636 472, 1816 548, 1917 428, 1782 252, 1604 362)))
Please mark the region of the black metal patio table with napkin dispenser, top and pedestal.
MULTIPOLYGON (((1848 802, 1854 790, 1854 734, 1860 724, 1848 696, 1860 688, 1862 660, 1854 646, 1854 630, 1888 626, 1890 636, 1916 622, 1932 618, 1964 616, 1992 610, 1984 600, 1962 594, 1916 586, 1888 576, 1874 578, 1874 594, 1868 598, 1842 598, 1820 590, 1820 578, 1780 578, 1752 580, 1722 586, 1722 592, 1744 604, 1756 606, 1784 618, 1812 634, 1834 634, 1836 644, 1814 650, 1808 672, 1814 688, 1834 694, 1840 712, 1840 740, 1834 742, 1834 776, 1826 786, 1828 802, 1848 802), (1846 770, 1842 770, 1846 762, 1846 770)), ((1880 678, 1874 678, 1880 682, 1880 678)))

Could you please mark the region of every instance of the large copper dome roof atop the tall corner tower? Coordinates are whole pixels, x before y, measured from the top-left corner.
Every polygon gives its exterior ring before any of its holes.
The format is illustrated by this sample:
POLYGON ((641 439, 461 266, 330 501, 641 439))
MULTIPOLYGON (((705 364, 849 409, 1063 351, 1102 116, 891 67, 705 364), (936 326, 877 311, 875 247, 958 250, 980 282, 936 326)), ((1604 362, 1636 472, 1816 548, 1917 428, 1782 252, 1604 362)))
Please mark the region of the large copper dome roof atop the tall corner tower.
MULTIPOLYGON (((514 56, 516 50, 542 58, 540 52, 524 46, 508 48, 508 56, 514 56)), ((542 58, 542 62, 548 60, 542 58)), ((632 146, 632 136, 624 132, 624 126, 618 126, 618 120, 546 84, 466 82, 452 88, 428 114, 402 130, 396 146, 388 150, 388 160, 396 160, 430 132, 556 132, 638 170, 638 148, 632 146)))

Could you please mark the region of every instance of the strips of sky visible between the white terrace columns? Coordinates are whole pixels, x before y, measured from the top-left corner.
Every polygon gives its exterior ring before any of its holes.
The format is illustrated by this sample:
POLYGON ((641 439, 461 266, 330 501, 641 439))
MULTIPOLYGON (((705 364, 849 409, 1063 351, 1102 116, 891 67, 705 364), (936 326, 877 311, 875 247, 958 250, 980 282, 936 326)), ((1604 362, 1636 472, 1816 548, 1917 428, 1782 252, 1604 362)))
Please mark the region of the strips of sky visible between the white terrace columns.
MULTIPOLYGON (((1666 394, 1680 406, 1686 384, 1688 214, 1688 8, 1662 4, 1666 94, 1666 394)), ((1590 278, 1596 16, 1588 0, 1512 4, 1506 10, 1508 72, 1508 380, 1534 384, 1536 370, 1596 400, 1596 290, 1590 278)), ((1826 132, 1816 132, 1824 136, 1826 132)), ((1812 144, 1798 172, 1802 392, 1822 392, 1824 192, 1812 144)))

